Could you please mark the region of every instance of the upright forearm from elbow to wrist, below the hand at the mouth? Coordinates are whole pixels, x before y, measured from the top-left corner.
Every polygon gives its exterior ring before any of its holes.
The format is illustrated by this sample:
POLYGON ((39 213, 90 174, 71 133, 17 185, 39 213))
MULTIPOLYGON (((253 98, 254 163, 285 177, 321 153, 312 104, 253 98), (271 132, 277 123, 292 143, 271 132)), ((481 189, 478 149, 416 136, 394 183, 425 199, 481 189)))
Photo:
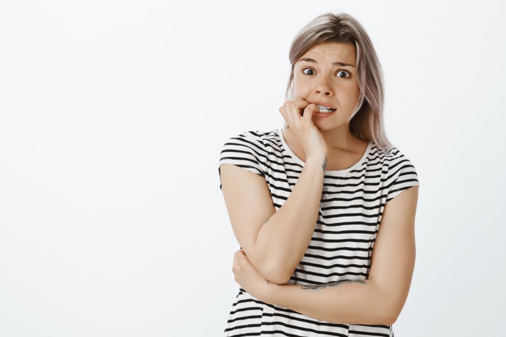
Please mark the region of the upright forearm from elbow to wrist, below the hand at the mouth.
MULTIPOLYGON (((316 227, 326 155, 308 157, 284 204, 260 229, 255 243, 280 278, 292 274, 302 260, 316 227)), ((282 282, 279 282, 282 283, 282 282)))

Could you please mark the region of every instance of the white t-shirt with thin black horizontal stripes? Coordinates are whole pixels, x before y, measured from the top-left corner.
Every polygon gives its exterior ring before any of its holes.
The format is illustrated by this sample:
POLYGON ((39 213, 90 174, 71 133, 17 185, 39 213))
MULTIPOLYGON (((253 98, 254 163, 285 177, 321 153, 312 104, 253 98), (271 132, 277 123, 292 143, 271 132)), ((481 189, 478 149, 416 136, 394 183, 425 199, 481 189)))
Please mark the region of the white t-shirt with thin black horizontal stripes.
MULTIPOLYGON (((230 163, 265 178, 276 211, 302 173, 304 161, 286 145, 281 129, 245 131, 223 145, 219 164, 230 163)), ((218 167, 221 190, 221 173, 218 167)), ((419 186, 413 164, 399 149, 369 142, 345 170, 325 171, 316 228, 304 257, 286 284, 322 284, 369 276, 371 253, 385 204, 419 186)), ((232 305, 225 336, 394 336, 392 325, 338 324, 264 303, 244 289, 232 305), (277 333, 276 333, 277 332, 277 333)))

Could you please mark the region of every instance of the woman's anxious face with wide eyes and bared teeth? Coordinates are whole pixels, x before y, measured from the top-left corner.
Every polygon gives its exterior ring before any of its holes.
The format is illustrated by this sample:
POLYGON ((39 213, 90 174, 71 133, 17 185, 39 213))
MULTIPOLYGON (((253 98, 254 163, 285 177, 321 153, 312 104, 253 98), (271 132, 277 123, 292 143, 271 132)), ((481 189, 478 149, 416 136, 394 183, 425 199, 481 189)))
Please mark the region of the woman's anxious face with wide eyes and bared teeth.
POLYGON ((346 125, 355 110, 360 96, 356 58, 350 43, 324 43, 314 46, 293 65, 293 97, 327 103, 336 109, 325 117, 313 114, 318 129, 346 125))

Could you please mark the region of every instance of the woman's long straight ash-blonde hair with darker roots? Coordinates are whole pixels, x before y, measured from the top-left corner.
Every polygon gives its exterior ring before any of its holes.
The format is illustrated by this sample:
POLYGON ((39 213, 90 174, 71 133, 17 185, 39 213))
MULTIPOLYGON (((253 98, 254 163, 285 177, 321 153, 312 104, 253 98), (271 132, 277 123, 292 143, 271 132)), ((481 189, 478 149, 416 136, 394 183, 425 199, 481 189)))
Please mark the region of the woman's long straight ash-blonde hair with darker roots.
MULTIPOLYGON (((363 140, 373 141, 379 150, 389 150, 393 145, 387 139, 383 122, 383 69, 365 29, 346 13, 319 15, 292 40, 288 56, 291 73, 285 101, 293 99, 294 64, 311 48, 330 42, 351 43, 357 54, 356 72, 360 96, 355 111, 348 120, 350 132, 363 140)), ((285 120, 284 128, 286 127, 285 120)))

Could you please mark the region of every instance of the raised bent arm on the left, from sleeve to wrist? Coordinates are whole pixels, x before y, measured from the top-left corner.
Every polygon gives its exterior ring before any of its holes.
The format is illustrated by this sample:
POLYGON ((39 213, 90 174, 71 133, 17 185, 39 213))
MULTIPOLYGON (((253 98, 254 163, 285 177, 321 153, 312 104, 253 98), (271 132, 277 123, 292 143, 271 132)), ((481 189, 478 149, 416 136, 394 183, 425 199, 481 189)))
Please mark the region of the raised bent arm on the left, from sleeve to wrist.
POLYGON ((234 234, 251 264, 271 282, 286 283, 311 242, 325 165, 325 153, 308 156, 277 212, 264 178, 244 168, 221 165, 222 192, 234 234))

